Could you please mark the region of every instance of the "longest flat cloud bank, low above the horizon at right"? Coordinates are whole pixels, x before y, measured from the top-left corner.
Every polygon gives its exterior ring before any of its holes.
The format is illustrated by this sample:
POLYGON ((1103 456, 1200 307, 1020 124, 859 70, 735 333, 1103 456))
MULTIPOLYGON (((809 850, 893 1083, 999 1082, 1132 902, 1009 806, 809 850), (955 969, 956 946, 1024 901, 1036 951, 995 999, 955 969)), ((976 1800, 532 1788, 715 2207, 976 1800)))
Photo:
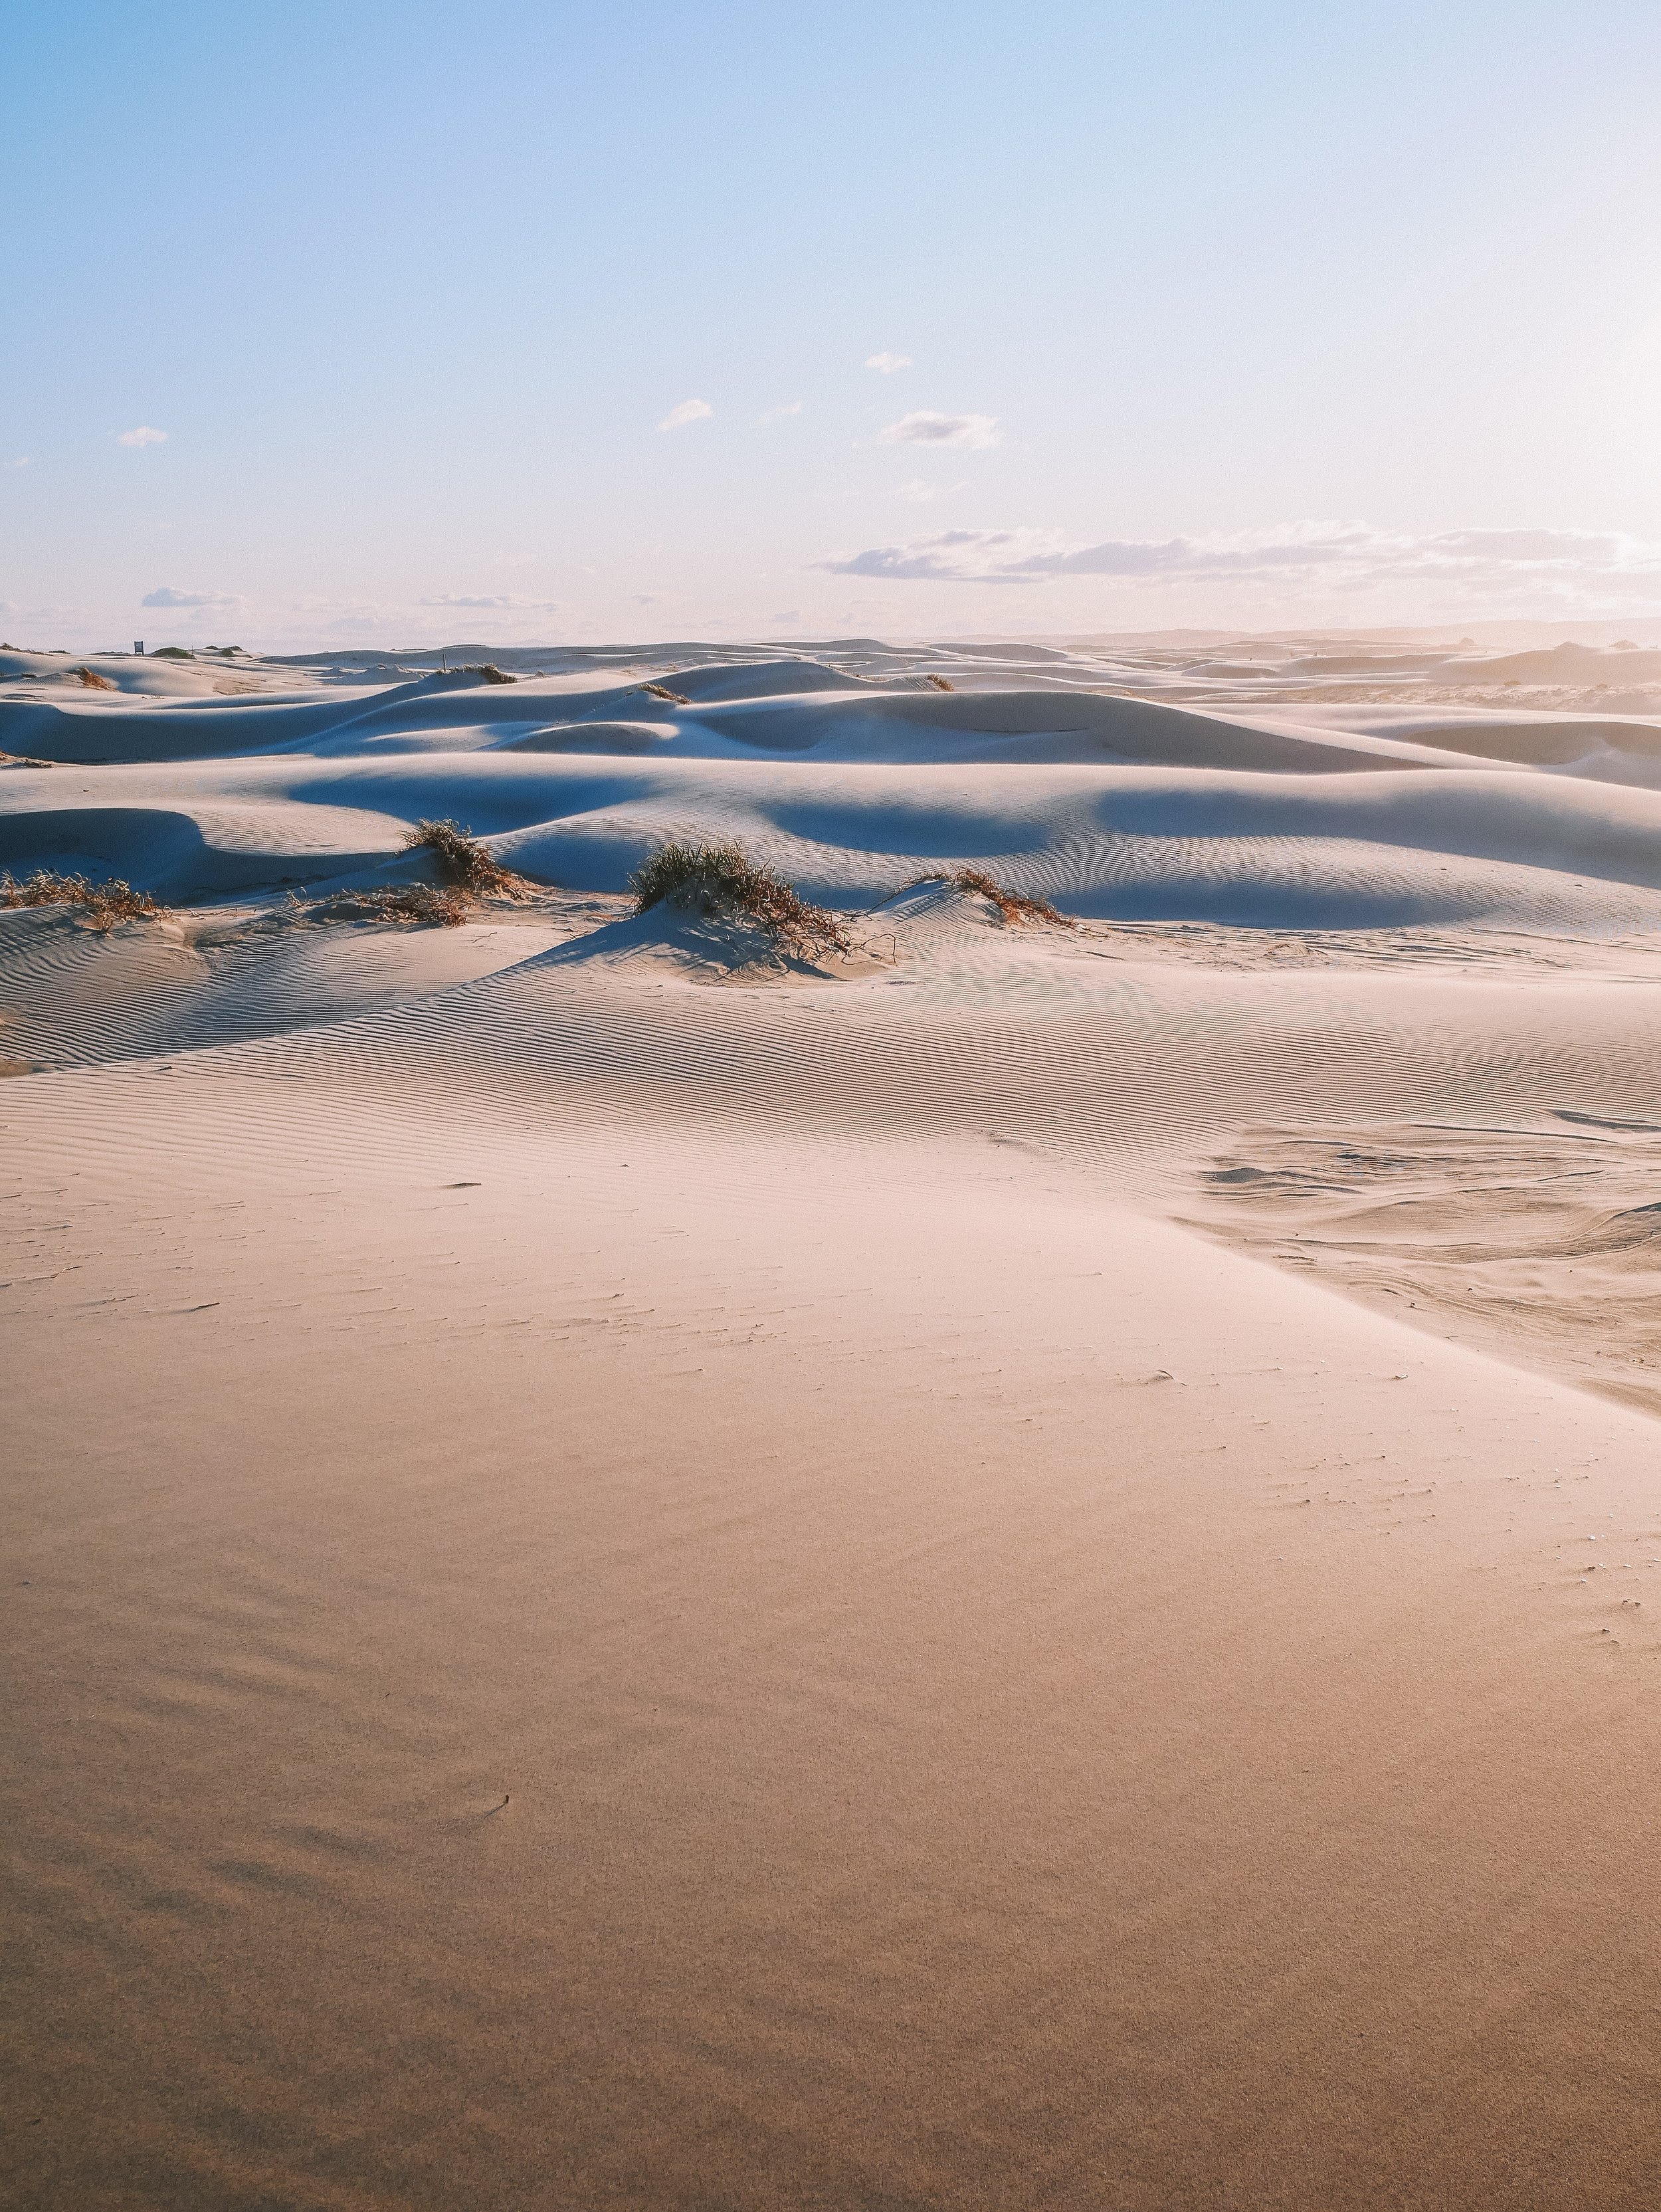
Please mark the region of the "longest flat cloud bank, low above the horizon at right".
POLYGON ((1661 546, 1612 531, 1469 529, 1413 538, 1365 522, 1285 522, 1205 538, 1104 538, 1053 531, 940 531, 818 562, 832 575, 927 584, 1046 584, 1115 577, 1148 586, 1234 580, 1256 588, 1360 595, 1415 584, 1440 599, 1661 604, 1661 546))

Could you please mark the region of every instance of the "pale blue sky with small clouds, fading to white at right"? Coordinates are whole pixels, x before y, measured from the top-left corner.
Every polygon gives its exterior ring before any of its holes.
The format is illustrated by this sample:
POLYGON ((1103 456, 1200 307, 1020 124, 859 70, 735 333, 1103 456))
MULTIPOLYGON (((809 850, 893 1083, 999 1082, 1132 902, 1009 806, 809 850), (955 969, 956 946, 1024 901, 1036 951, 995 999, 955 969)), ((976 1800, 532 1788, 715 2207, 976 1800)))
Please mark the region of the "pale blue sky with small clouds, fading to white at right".
POLYGON ((0 0, 0 633, 1661 617, 1654 0, 0 0))

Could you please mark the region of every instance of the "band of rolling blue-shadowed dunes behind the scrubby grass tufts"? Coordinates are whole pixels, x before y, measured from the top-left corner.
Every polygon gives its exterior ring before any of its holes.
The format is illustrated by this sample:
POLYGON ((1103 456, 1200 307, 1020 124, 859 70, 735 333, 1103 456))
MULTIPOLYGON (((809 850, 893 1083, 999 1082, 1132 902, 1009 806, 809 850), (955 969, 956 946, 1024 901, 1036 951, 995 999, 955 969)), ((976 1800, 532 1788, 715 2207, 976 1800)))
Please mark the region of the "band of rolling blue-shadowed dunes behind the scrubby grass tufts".
POLYGON ((1643 785, 1659 723, 1462 712, 1382 728, 1360 710, 1345 730, 1323 708, 1318 728, 1270 728, 1126 695, 882 688, 807 659, 672 675, 657 692, 431 672, 276 703, 0 701, 0 743, 58 763, 11 772, 0 865, 223 896, 356 876, 409 821, 453 814, 513 867, 588 891, 619 891, 666 836, 719 825, 838 905, 975 858, 1121 920, 1654 918, 1661 796, 1643 785))

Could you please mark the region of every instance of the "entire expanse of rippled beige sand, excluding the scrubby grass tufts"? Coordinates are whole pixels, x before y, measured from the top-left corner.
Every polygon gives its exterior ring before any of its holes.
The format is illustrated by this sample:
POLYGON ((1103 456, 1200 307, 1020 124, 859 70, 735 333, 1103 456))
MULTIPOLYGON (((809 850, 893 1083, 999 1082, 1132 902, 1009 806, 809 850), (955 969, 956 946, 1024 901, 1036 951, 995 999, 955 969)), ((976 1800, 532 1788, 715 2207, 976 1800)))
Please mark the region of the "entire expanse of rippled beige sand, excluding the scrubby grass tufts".
POLYGON ((1661 723, 1026 650, 0 701, 4 2201, 1661 2201, 1661 723))

